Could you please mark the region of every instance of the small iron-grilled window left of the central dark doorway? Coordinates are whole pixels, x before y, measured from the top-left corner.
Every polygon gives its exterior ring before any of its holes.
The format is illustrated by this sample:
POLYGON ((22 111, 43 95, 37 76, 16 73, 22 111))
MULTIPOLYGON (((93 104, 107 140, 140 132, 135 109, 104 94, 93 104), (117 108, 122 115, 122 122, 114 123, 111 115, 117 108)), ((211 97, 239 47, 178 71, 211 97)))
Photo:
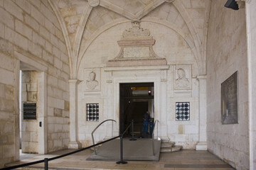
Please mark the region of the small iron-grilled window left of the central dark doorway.
POLYGON ((99 121, 99 103, 86 104, 86 120, 99 121))

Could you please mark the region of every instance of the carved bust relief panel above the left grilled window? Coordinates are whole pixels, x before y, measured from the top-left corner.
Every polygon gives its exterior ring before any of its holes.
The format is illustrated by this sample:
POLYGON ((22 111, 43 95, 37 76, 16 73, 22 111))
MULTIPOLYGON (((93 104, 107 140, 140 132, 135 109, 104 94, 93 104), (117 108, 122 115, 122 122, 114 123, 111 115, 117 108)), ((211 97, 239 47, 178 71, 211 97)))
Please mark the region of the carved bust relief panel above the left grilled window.
POLYGON ((85 69, 84 77, 84 91, 100 91, 100 69, 85 69))

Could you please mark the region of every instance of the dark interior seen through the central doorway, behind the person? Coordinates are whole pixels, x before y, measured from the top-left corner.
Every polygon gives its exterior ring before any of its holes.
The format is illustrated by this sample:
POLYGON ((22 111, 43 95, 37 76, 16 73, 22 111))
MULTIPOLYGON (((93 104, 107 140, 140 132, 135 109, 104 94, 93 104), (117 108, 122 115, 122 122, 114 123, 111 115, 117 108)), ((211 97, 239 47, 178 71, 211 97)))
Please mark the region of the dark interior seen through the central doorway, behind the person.
MULTIPOLYGON (((141 136, 143 115, 149 111, 154 122, 154 83, 124 83, 120 89, 119 132, 122 134, 134 120, 134 134, 141 136)), ((125 136, 131 133, 127 130, 125 136)))

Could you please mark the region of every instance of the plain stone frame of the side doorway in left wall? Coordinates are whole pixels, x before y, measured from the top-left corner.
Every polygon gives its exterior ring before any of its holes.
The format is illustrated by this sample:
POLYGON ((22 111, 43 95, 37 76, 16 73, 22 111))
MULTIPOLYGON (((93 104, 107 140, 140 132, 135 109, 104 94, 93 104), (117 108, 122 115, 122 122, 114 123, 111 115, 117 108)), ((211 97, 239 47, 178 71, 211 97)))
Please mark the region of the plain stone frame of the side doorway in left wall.
POLYGON ((38 72, 38 154, 47 153, 47 70, 48 67, 40 62, 36 62, 31 58, 23 55, 17 51, 14 52, 15 60, 15 159, 19 160, 19 139, 20 139, 20 128, 19 128, 19 83, 20 83, 20 70, 22 65, 26 65, 28 69, 38 72), (22 64, 22 65, 21 65, 22 64), (41 122, 41 127, 39 123, 41 122))

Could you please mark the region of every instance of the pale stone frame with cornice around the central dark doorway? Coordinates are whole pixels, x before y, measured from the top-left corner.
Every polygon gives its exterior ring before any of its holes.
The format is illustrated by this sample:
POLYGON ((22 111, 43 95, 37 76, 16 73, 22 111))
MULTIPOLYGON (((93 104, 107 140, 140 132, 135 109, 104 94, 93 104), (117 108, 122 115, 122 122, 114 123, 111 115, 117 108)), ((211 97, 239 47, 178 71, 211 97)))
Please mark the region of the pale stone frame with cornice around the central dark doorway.
POLYGON ((144 67, 105 67, 107 88, 113 89, 113 95, 108 96, 112 104, 112 118, 117 121, 114 132, 119 132, 119 84, 123 83, 154 83, 154 118, 159 120, 159 137, 169 140, 166 118, 166 76, 168 65, 144 67))

